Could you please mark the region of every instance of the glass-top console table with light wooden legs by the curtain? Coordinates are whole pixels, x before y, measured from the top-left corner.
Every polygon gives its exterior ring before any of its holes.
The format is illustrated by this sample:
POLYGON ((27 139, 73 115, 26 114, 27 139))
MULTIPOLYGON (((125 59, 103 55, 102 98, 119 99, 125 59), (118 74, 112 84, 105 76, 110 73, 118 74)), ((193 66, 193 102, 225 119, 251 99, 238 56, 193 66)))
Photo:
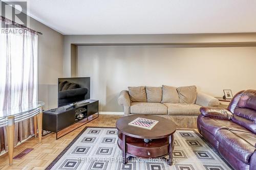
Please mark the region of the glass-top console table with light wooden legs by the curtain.
POLYGON ((42 137, 42 106, 44 105, 44 102, 37 101, 18 106, 17 108, 0 110, 0 127, 7 127, 7 143, 10 165, 12 165, 13 159, 15 123, 33 117, 35 137, 38 126, 38 138, 40 143, 42 137))

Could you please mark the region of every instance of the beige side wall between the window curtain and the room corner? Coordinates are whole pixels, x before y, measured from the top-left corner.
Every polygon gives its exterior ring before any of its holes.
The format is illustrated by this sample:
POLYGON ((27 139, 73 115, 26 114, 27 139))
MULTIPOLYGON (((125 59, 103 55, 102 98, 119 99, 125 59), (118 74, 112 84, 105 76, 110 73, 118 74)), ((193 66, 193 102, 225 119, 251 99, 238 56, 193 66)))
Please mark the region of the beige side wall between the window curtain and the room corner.
POLYGON ((38 35, 38 100, 44 109, 57 107, 57 78, 62 77, 63 35, 30 18, 29 28, 38 35))

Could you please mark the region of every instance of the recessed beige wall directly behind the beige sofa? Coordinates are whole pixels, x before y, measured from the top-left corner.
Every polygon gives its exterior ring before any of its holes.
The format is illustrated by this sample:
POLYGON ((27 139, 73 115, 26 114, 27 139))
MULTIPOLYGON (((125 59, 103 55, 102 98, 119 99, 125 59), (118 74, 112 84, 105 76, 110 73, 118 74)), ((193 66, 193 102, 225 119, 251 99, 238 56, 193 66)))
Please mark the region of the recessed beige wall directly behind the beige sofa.
POLYGON ((256 47, 79 46, 77 76, 91 77, 91 98, 101 111, 122 111, 127 86, 197 85, 222 96, 256 89, 256 47))

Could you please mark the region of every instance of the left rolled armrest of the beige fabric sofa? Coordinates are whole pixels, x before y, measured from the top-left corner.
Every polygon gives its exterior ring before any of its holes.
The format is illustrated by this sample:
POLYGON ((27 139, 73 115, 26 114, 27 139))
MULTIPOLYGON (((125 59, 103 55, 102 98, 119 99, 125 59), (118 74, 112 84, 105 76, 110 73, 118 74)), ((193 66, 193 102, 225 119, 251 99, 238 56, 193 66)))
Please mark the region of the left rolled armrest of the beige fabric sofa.
POLYGON ((118 96, 118 104, 120 106, 123 106, 124 115, 131 113, 131 100, 127 90, 123 90, 120 92, 118 96))

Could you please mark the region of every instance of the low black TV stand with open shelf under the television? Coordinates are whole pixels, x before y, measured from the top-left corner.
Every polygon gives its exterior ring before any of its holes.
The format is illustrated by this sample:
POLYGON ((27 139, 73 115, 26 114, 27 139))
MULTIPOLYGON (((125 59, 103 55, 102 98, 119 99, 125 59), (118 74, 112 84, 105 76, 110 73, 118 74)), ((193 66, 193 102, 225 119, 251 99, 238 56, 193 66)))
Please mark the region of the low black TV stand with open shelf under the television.
POLYGON ((56 139, 72 132, 73 130, 87 124, 91 120, 99 116, 99 101, 87 100, 89 103, 62 106, 52 110, 43 112, 42 129, 56 133, 56 139), (75 110, 77 108, 85 108, 81 113, 84 117, 76 120, 75 110))

